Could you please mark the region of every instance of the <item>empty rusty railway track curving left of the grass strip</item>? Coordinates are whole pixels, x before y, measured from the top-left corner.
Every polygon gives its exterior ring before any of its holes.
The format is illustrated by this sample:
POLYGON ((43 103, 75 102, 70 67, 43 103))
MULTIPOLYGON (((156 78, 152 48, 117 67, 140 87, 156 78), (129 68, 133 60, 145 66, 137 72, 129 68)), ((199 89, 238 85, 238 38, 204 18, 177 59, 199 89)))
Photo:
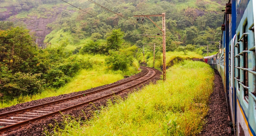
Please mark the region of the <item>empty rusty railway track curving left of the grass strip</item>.
MULTIPOLYGON (((141 66, 143 67, 143 66, 141 66)), ((148 79, 151 79, 155 74, 156 70, 149 67, 143 67, 147 72, 137 78, 119 83, 118 85, 113 85, 105 87, 99 90, 91 91, 81 95, 72 96, 69 98, 64 98, 52 102, 47 102, 39 104, 36 106, 31 106, 23 109, 18 109, 6 113, 0 114, 0 132, 6 132, 36 120, 44 119, 46 117, 52 117, 60 112, 64 112, 84 104, 89 104, 95 100, 99 100, 104 97, 114 95, 115 93, 121 92, 123 90, 135 87, 148 79)))

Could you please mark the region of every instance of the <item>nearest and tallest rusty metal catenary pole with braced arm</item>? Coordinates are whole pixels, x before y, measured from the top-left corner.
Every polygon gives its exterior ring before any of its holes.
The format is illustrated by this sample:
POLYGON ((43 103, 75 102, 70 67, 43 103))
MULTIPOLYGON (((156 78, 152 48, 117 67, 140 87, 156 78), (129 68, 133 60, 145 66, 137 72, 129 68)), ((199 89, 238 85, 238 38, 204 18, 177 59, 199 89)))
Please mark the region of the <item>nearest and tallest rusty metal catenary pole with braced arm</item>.
MULTIPOLYGON (((165 13, 162 13, 162 15, 136 15, 134 17, 147 17, 151 22, 153 22, 162 32, 162 38, 163 38, 163 80, 166 80, 166 61, 165 61, 165 52, 166 52, 166 47, 165 47, 165 13), (150 19, 150 17, 162 17, 162 29, 153 21, 150 19)), ((138 19, 137 19, 138 20, 138 19)))

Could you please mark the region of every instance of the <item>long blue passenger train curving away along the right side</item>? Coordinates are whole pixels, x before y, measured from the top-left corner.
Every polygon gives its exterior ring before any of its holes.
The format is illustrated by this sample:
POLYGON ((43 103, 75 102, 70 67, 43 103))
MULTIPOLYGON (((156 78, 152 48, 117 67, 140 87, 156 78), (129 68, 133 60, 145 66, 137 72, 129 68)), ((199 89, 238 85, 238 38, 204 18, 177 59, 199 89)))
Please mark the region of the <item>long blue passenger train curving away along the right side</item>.
POLYGON ((256 136, 256 0, 229 0, 217 54, 204 57, 222 79, 231 133, 256 136))

